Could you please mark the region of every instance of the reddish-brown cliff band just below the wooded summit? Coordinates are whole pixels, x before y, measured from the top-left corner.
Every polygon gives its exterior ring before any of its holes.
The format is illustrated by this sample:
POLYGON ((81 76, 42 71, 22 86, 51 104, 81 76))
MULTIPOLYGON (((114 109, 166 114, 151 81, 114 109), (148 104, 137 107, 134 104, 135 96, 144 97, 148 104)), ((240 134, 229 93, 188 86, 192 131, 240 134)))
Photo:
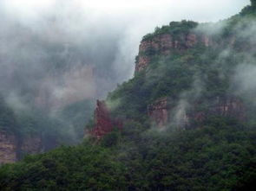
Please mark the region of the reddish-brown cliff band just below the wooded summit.
POLYGON ((170 34, 155 35, 154 37, 141 41, 139 55, 135 63, 135 73, 145 69, 154 55, 169 55, 174 51, 182 51, 187 48, 202 44, 209 47, 213 44, 206 35, 198 35, 193 32, 180 34, 179 38, 170 34))

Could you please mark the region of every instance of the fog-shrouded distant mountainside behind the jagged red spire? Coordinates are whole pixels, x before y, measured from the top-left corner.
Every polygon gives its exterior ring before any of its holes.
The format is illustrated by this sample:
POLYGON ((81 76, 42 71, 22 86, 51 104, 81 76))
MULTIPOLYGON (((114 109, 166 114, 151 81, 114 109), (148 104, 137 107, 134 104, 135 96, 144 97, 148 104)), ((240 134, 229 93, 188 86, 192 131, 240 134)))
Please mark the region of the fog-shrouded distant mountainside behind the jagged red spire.
POLYGON ((38 140, 38 152, 81 142, 95 99, 130 76, 125 61, 125 74, 115 66, 121 31, 74 24, 82 16, 67 3, 20 20, 0 3, 0 130, 15 136, 19 152, 30 153, 21 148, 28 138, 38 140))

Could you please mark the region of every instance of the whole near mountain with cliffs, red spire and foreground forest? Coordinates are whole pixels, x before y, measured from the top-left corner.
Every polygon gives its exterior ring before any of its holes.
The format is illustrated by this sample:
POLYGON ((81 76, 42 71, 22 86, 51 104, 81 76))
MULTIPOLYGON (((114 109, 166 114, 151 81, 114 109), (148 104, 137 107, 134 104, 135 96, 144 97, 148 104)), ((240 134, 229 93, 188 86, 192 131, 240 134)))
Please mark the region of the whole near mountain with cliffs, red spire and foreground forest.
POLYGON ((0 188, 254 190, 255 21, 252 1, 145 35, 134 78, 97 101, 83 143, 3 165, 0 188))

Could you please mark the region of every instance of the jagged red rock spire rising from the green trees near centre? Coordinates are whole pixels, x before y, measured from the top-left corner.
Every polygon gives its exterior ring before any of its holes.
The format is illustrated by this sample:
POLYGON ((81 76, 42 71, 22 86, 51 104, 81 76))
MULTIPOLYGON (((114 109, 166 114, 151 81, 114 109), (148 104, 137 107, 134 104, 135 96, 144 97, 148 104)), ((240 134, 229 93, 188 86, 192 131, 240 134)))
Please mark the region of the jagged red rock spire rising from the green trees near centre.
POLYGON ((114 127, 121 129, 121 123, 110 118, 110 112, 104 101, 97 100, 95 109, 95 128, 91 132, 92 136, 101 139, 104 135, 113 131, 114 127))

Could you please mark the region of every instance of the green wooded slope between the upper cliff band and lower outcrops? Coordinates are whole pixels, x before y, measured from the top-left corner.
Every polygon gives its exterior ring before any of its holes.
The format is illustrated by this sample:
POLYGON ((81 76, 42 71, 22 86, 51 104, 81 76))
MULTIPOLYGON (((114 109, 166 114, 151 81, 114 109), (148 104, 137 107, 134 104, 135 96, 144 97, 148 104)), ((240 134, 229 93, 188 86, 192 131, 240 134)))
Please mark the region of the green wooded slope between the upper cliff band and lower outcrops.
MULTIPOLYGON (((224 96, 229 89, 232 67, 223 67, 218 48, 195 48, 169 56, 154 56, 147 70, 136 73, 135 78, 118 86, 108 94, 108 103, 118 103, 113 114, 121 119, 148 123, 148 105, 156 99, 168 97, 172 106, 178 104, 181 94, 197 99, 224 96)), ((231 60, 231 59, 230 59, 231 60)), ((230 61, 228 60, 228 61, 230 61)), ((142 125, 146 126, 146 125, 142 125)))

